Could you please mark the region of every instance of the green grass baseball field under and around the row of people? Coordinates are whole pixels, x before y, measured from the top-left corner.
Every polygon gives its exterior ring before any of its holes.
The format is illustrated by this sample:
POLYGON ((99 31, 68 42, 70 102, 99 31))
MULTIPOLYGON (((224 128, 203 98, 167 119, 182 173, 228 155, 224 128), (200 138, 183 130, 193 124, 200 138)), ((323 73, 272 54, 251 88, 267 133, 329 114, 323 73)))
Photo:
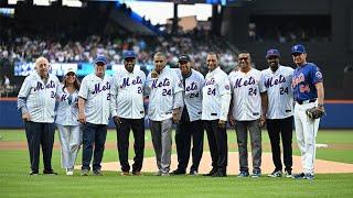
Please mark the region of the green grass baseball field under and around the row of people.
MULTIPOLYGON (((150 132, 146 133, 146 158, 154 156, 150 132)), ((131 135, 132 136, 132 135, 131 135)), ((133 151, 130 138, 130 158, 133 151)), ((207 143, 205 139, 205 152, 207 143)), ((317 150, 317 158, 353 165, 353 131, 320 130, 317 142, 322 147, 317 150)), ((236 152, 234 130, 228 131, 229 152, 236 152)), ((263 132, 264 155, 270 153, 269 140, 263 132)), ((175 153, 175 147, 173 147, 175 153)), ((293 139, 293 155, 299 151, 293 139)), ((231 157, 231 155, 229 155, 231 157)), ((265 161, 263 158, 263 161, 265 161)), ((267 161, 267 160, 266 160, 267 161)), ((117 162, 116 133, 109 131, 106 142, 104 162, 117 162)), ((234 163, 234 161, 229 162, 234 163)), ((42 163, 42 160, 41 160, 42 163)), ((81 163, 81 153, 76 164, 81 163)), ((118 163, 116 163, 118 164, 118 163)), ((176 162, 172 161, 175 166, 176 162)), ((263 162, 271 164, 271 162, 263 162)), ((298 164, 295 164, 296 166, 298 164)), ((299 164, 300 165, 300 164, 299 164)), ((210 167, 210 164, 202 164, 210 167)), ((204 176, 158 177, 153 172, 141 176, 120 176, 118 166, 115 170, 105 170, 104 176, 66 176, 60 166, 60 144, 57 133, 53 151, 53 168, 57 176, 30 176, 29 154, 23 130, 0 130, 0 197, 352 197, 353 170, 340 170, 331 165, 335 174, 315 174, 314 180, 296 180, 292 178, 237 178, 229 170, 228 177, 212 178, 204 176)), ((40 167, 43 167, 41 164, 40 167)), ((318 166, 317 166, 318 167, 318 166)), ((318 167, 320 168, 320 167, 318 167)), ((150 167, 156 170, 156 167, 150 167)), ((296 169, 296 168, 295 168, 296 169)), ((300 169, 300 167, 299 167, 300 169)))

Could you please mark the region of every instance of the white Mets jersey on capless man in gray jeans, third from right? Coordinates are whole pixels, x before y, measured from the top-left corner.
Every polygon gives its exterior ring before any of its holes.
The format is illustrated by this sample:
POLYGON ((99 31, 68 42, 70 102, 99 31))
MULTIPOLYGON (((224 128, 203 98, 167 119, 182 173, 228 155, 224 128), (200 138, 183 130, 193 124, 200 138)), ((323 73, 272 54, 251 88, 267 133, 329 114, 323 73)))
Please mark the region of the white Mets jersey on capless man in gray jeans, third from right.
POLYGON ((252 68, 248 73, 240 70, 229 74, 233 92, 233 117, 238 121, 257 120, 261 116, 260 92, 266 91, 261 72, 252 68))

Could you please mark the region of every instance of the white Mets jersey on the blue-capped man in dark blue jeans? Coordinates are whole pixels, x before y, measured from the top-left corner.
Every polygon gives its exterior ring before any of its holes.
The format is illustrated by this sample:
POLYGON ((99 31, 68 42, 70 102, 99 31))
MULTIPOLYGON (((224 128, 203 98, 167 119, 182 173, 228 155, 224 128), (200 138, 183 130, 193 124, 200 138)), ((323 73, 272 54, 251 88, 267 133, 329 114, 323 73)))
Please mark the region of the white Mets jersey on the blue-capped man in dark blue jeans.
POLYGON ((95 74, 82 80, 78 96, 86 100, 86 121, 93 124, 108 124, 110 114, 110 84, 107 75, 99 78, 95 74))

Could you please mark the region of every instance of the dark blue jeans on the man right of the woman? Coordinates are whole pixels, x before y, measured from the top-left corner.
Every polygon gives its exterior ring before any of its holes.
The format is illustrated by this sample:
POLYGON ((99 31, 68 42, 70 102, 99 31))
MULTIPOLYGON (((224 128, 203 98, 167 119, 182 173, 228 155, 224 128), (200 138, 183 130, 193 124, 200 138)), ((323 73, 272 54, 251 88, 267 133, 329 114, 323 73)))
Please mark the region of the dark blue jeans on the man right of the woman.
POLYGON ((104 153, 104 145, 107 138, 107 125, 105 124, 83 124, 83 153, 82 153, 82 169, 90 169, 93 145, 95 145, 93 170, 101 168, 100 163, 104 153))

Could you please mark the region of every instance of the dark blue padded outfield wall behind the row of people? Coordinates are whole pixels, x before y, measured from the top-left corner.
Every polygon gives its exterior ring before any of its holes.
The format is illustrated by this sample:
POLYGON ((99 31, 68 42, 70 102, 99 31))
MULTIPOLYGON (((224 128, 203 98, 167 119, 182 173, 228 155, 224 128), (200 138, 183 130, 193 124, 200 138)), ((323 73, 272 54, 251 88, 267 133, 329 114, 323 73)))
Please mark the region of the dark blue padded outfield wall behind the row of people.
MULTIPOLYGON (((327 101, 327 116, 320 122, 321 129, 353 129, 353 101, 327 101)), ((23 128, 15 99, 0 100, 0 129, 23 128)), ((109 128, 114 123, 109 122, 109 128)))

